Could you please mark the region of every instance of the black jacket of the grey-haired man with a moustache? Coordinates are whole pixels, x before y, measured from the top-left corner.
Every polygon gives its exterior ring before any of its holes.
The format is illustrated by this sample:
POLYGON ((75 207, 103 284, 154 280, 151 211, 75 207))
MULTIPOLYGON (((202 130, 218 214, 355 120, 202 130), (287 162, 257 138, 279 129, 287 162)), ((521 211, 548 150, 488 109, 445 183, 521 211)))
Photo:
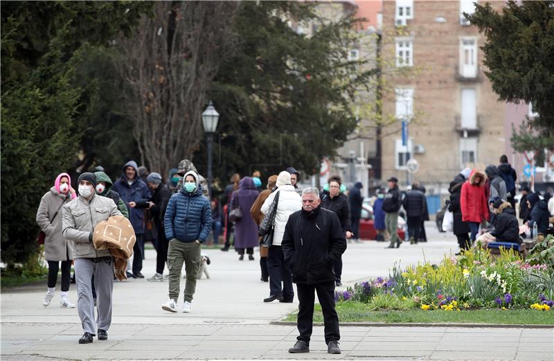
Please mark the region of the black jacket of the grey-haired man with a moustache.
POLYGON ((281 247, 294 283, 323 283, 334 281, 333 261, 341 259, 346 239, 337 214, 319 206, 289 216, 281 247))

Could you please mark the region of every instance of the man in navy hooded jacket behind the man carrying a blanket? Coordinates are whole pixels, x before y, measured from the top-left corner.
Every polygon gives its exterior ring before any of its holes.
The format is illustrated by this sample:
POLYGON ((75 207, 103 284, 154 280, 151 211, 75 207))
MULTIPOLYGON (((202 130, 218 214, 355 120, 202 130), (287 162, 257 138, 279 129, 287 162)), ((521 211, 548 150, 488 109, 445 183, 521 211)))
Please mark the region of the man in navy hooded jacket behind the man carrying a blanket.
POLYGON ((133 273, 127 272, 127 277, 143 279, 141 273, 143 269, 143 254, 144 254, 144 209, 141 205, 150 200, 150 191, 148 186, 139 178, 139 170, 136 166, 136 161, 128 161, 123 166, 123 175, 114 184, 114 191, 119 193, 119 196, 125 202, 129 209, 129 220, 133 225, 136 243, 133 247, 133 273), (139 207, 136 205, 139 204, 139 207))

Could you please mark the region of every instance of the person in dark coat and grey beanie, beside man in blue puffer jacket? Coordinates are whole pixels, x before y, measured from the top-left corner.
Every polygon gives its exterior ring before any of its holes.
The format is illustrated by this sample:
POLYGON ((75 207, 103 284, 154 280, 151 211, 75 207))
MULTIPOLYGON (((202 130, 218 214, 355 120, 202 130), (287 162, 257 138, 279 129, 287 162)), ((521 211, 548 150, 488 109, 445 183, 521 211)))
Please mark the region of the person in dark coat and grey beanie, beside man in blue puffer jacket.
POLYGON ((156 274, 150 277, 148 281, 163 281, 163 268, 166 266, 168 259, 168 238, 166 231, 163 229, 163 217, 166 215, 166 207, 168 206, 171 197, 171 191, 168 186, 161 182, 161 175, 152 172, 146 178, 148 188, 152 191, 152 202, 148 202, 150 206, 150 214, 152 220, 156 223, 157 229, 157 248, 156 248, 156 274))

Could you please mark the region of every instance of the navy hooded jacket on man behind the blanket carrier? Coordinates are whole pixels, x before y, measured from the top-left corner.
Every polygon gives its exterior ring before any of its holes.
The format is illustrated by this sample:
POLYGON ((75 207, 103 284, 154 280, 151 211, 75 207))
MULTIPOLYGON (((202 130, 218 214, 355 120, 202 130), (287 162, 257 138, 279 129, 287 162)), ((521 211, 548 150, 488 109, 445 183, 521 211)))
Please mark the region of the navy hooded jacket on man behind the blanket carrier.
POLYGON ((151 196, 148 186, 139 177, 138 168, 139 167, 136 166, 136 161, 127 161, 122 168, 123 175, 116 181, 112 189, 116 191, 123 202, 125 202, 125 206, 127 206, 129 210, 129 220, 133 225, 134 233, 144 234, 144 209, 140 207, 132 208, 129 206, 129 202, 148 202, 151 196), (125 175, 125 168, 129 166, 133 167, 136 172, 136 176, 131 184, 129 184, 129 179, 127 179, 127 175, 125 175))

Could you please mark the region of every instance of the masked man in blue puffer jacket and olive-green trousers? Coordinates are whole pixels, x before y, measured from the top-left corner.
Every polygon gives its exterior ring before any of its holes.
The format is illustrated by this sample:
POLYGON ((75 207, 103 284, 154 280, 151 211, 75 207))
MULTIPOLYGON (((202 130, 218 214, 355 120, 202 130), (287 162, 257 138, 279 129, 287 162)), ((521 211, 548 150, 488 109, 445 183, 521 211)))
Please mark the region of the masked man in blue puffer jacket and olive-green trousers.
POLYGON ((198 175, 190 170, 185 173, 181 191, 171 196, 163 218, 166 238, 169 240, 169 301, 161 308, 177 312, 181 269, 185 263, 186 283, 183 312, 190 312, 190 302, 196 289, 196 277, 202 258, 200 245, 206 241, 212 229, 210 201, 202 195, 198 175))

